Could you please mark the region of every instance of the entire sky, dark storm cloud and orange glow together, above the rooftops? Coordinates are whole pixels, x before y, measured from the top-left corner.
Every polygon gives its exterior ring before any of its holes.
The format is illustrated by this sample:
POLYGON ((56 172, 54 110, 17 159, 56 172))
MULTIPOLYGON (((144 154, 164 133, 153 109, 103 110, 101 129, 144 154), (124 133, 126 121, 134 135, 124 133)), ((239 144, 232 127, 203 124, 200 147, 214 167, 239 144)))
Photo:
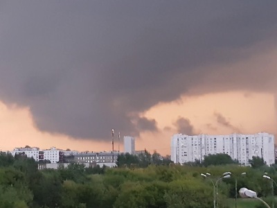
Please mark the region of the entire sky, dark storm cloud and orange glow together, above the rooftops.
POLYGON ((170 154, 177 133, 277 135, 277 2, 3 1, 1 150, 170 154), (123 150, 123 142, 120 149, 123 150))

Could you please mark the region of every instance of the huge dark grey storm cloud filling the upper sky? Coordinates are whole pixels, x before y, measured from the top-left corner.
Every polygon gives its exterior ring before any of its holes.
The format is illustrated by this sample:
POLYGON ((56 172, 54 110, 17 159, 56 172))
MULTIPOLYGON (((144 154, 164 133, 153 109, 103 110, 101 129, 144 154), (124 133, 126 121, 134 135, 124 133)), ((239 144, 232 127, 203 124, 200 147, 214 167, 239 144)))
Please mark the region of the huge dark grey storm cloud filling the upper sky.
POLYGON ((277 1, 1 1, 0 99, 29 106, 40 130, 73 137, 157 130, 137 115, 192 89, 276 89, 276 70, 210 67, 276 42, 276 8, 277 1))

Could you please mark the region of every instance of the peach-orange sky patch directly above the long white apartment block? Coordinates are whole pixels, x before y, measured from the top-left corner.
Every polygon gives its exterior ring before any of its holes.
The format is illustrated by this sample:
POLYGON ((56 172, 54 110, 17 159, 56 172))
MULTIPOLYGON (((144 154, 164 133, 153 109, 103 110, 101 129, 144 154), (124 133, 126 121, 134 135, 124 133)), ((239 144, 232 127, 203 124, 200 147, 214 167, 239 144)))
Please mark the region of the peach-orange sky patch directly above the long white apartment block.
POLYGON ((215 112, 220 113, 242 133, 256 133, 267 131, 276 133, 276 118, 274 109, 274 96, 272 94, 256 94, 247 92, 229 92, 222 94, 206 94, 204 96, 182 97, 180 101, 161 104, 152 107, 145 116, 155 118, 162 129, 155 135, 143 134, 143 144, 148 144, 150 150, 168 154, 170 151, 170 136, 178 133, 172 125, 178 116, 190 120, 196 132, 204 134, 230 134, 231 128, 217 123, 215 112), (207 127, 211 123, 212 128, 207 127), (163 130, 165 127, 171 130, 163 130), (154 139, 149 139, 154 137, 154 139))

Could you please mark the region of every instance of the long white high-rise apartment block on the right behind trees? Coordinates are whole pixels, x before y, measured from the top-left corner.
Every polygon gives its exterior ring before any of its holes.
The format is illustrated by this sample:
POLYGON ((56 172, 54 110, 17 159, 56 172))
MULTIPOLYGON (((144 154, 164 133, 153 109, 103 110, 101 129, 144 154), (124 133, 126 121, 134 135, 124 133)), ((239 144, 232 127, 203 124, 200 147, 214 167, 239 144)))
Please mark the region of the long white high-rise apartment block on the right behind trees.
POLYGON ((267 165, 274 164, 274 135, 173 135, 171 160, 175 163, 202 162, 205 155, 225 153, 242 165, 249 165, 253 156, 262 157, 267 165))

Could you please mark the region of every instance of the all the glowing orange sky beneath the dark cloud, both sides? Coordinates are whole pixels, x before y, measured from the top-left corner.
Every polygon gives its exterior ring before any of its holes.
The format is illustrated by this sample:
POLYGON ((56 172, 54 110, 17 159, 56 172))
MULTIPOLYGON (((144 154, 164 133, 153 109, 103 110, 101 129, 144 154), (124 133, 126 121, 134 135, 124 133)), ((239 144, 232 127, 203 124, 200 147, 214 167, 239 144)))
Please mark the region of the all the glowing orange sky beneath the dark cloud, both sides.
MULTIPOLYGON (((159 132, 144 132, 136 138, 136 150, 144 148, 170 153, 170 137, 178 133, 172 123, 179 116, 190 120, 195 131, 205 134, 230 134, 231 128, 217 123, 215 112, 224 115, 233 126, 243 133, 267 131, 276 134, 276 112, 273 94, 252 92, 228 92, 203 96, 182 97, 179 101, 161 103, 145 112, 143 116, 156 119, 159 132), (207 123, 210 123, 208 128, 207 123), (165 127, 167 130, 163 130, 165 127)), ((0 103, 1 150, 12 150, 20 146, 39 148, 70 148, 71 150, 111 150, 110 142, 73 139, 65 135, 40 132, 35 128, 28 108, 0 103)), ((122 135, 123 136, 123 135, 122 135)), ((115 148, 118 144, 116 142, 115 148)), ((123 150, 123 146, 120 146, 123 150)))

